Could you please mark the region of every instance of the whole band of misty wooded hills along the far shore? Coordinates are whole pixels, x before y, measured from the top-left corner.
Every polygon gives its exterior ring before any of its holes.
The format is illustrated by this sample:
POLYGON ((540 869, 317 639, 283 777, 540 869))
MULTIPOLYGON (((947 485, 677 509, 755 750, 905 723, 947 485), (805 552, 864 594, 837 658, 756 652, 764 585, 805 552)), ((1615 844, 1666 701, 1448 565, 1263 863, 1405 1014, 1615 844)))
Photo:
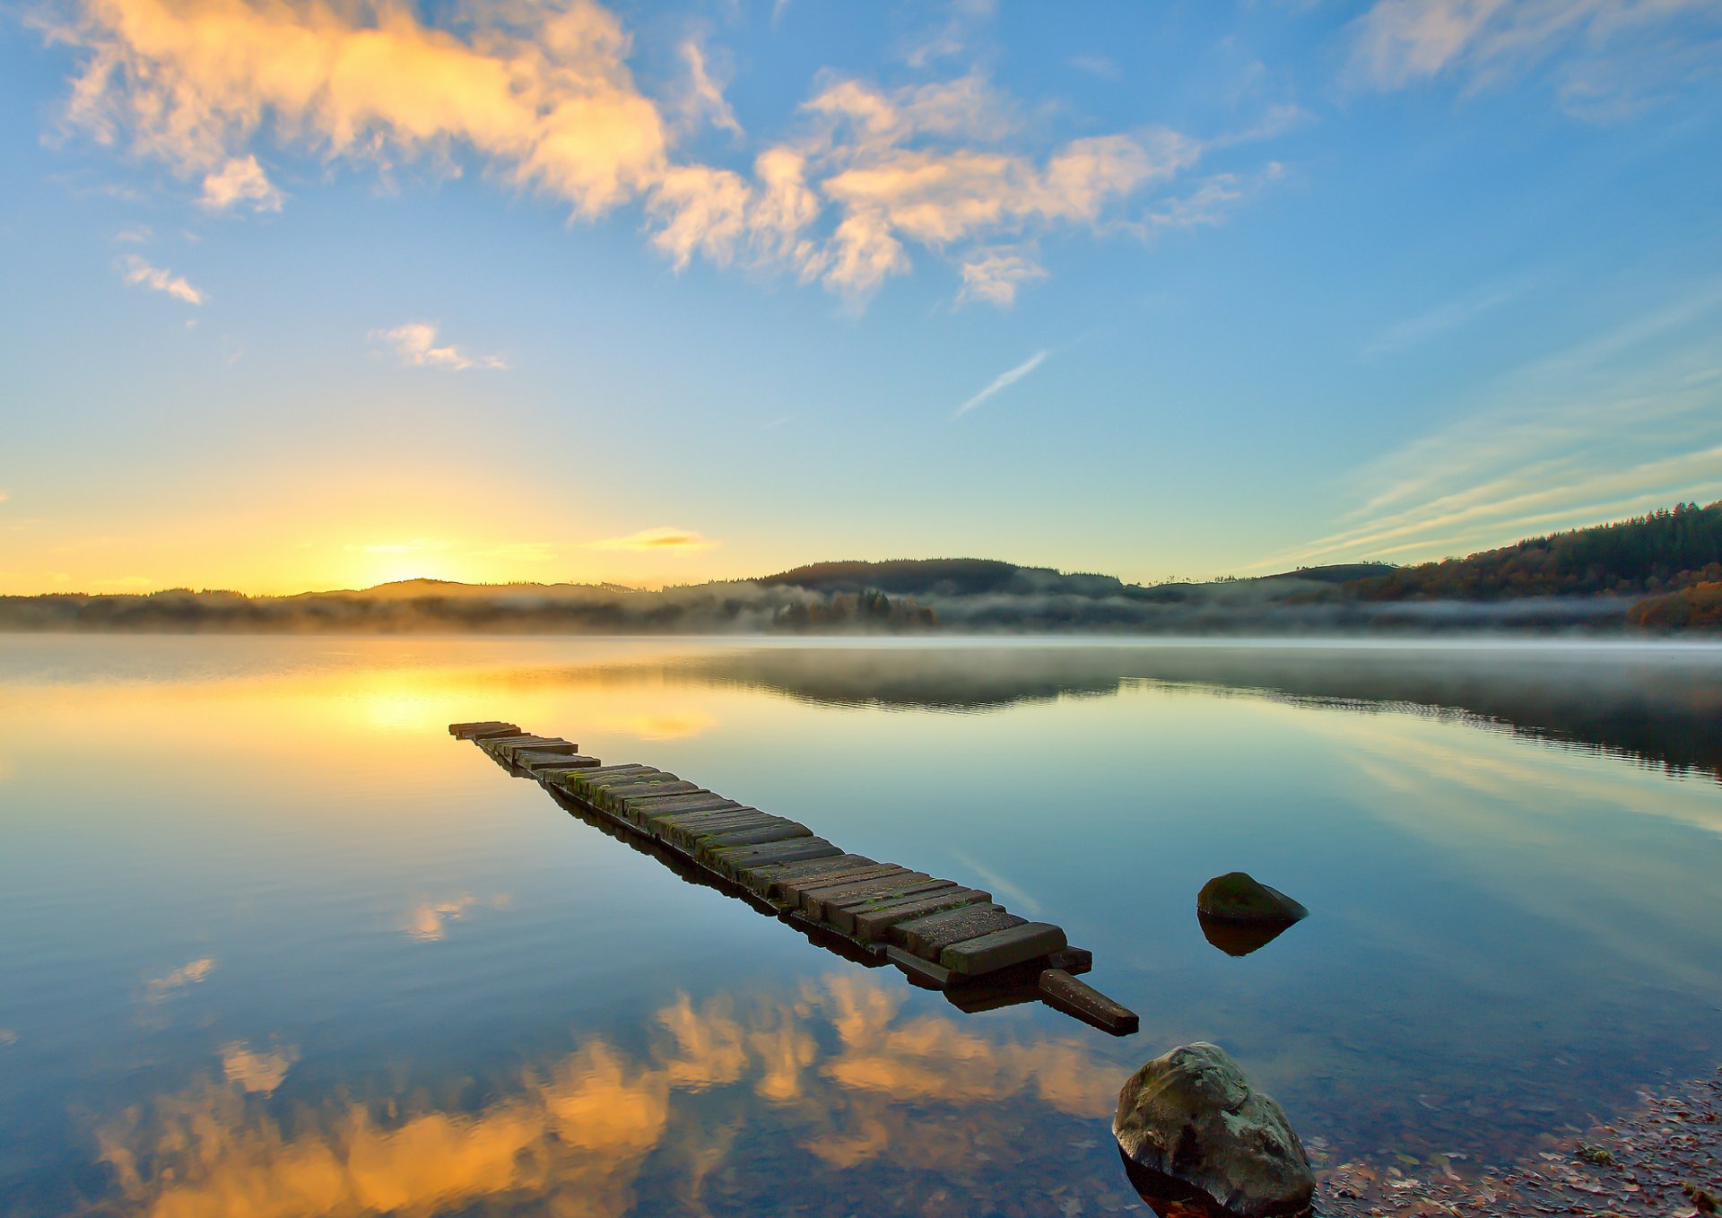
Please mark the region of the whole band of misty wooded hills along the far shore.
POLYGON ((1335 563, 1259 579, 1126 584, 990 558, 821 562, 646 591, 456 584, 243 596, 0 596, 0 631, 484 634, 1343 634, 1722 629, 1722 503, 1527 538, 1419 567, 1335 563))

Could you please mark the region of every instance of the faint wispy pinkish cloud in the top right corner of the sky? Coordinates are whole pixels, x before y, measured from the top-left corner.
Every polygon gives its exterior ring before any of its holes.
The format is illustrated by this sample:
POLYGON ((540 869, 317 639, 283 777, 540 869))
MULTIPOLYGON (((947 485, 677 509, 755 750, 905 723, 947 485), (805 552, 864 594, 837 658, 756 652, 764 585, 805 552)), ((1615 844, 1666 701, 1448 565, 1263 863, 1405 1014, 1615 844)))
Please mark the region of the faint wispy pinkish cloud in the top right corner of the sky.
POLYGON ((1660 93, 1722 57, 1717 0, 1376 0, 1352 24, 1353 81, 1490 88, 1548 65, 1572 110, 1660 93))

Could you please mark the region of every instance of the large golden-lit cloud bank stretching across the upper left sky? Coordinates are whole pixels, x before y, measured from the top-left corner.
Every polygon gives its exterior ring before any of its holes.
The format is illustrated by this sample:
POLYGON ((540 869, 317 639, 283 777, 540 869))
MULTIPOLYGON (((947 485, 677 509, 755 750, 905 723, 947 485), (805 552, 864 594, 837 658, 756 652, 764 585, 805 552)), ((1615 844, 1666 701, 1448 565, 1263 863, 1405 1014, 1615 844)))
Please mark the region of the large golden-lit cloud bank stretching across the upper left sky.
MULTIPOLYGON (((966 269, 1052 227, 1102 233, 1204 152, 1154 126, 1045 141, 975 72, 897 90, 825 74, 799 131, 751 165, 715 165, 677 155, 701 124, 744 134, 708 52, 682 43, 678 96, 646 96, 629 33, 594 0, 477 5, 449 28, 412 7, 324 0, 65 2, 72 16, 50 31, 81 55, 65 122, 200 181, 208 208, 281 207, 251 150, 263 138, 379 172, 475 158, 577 217, 642 207, 647 239, 678 269, 704 257, 787 270, 851 301, 906 274, 914 246, 966 269)), ((957 5, 921 62, 988 12, 957 5)), ((1009 303, 1025 277, 964 272, 964 300, 1009 303)), ((434 338, 415 350, 477 365, 434 338)))

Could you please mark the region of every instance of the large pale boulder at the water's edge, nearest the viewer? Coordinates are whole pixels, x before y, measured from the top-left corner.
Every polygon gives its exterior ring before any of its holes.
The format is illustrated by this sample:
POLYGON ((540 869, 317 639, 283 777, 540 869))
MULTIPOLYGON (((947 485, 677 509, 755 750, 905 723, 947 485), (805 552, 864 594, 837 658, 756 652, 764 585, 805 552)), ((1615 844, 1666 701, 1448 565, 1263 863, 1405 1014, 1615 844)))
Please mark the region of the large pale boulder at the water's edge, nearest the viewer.
POLYGON ((1309 1208, 1316 1177, 1285 1111, 1216 1044, 1155 1058, 1118 1092, 1124 1156, 1183 1180, 1242 1218, 1309 1208))

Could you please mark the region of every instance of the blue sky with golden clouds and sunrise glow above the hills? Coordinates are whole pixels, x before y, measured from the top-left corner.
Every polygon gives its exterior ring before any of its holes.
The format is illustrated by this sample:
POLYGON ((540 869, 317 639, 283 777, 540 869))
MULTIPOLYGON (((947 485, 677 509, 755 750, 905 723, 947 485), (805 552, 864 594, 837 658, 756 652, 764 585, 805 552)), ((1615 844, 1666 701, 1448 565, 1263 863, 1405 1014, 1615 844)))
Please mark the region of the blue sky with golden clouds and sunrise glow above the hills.
POLYGON ((7 0, 0 593, 1722 498, 1722 0, 7 0))

